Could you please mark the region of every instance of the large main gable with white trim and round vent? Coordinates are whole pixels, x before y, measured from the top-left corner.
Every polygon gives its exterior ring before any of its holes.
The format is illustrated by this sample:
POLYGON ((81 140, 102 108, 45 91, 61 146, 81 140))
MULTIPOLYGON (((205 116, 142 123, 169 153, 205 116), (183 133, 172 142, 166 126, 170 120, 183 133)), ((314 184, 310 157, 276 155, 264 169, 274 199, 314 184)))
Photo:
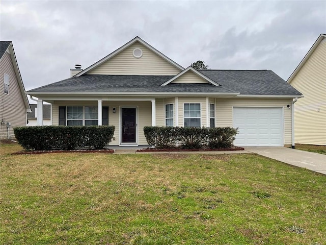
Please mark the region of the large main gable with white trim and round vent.
POLYGON ((79 72, 89 75, 176 75, 183 67, 135 37, 116 51, 79 72), (141 52, 134 56, 134 52, 141 52))

